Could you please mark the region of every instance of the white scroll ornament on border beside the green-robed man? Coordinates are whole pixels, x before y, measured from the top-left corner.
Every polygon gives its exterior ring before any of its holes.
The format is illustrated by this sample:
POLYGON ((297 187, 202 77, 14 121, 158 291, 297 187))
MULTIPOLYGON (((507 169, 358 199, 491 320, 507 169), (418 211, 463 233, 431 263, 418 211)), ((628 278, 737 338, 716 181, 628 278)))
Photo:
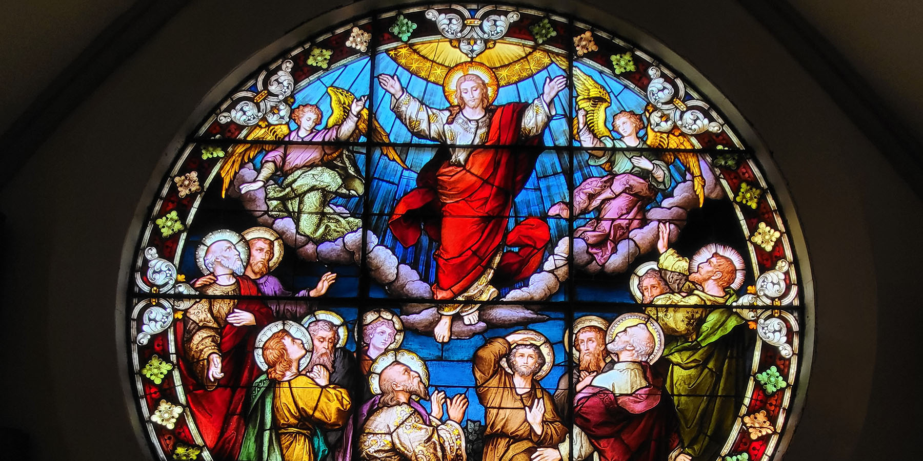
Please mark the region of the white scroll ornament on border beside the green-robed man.
MULTIPOLYGON (((756 292, 741 296, 734 302, 738 306, 780 306, 795 300, 798 287, 785 278, 791 264, 785 259, 779 260, 775 268, 763 272, 756 279, 756 292)), ((756 332, 760 338, 779 348, 779 353, 786 359, 795 352, 788 344, 788 325, 797 331, 797 320, 790 313, 775 309, 735 309, 749 320, 756 320, 756 332), (787 325, 786 325, 787 321, 787 325)))

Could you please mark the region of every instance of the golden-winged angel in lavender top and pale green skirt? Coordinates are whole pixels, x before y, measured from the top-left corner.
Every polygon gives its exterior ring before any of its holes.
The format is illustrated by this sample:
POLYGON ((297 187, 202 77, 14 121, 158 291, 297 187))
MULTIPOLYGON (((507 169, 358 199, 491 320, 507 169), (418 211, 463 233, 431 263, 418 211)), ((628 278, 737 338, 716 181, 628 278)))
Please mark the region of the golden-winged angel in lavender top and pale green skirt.
MULTIPOLYGON (((265 140, 269 144, 235 146, 221 171, 226 190, 241 166, 266 150, 257 178, 241 184, 240 192, 246 194, 265 187, 270 217, 291 217, 298 233, 316 243, 330 242, 359 229, 362 221, 343 217, 330 206, 330 200, 336 196, 362 195, 366 187, 353 153, 337 143, 356 142, 359 136, 366 134, 369 124, 365 107, 367 96, 355 98, 349 91, 336 87, 328 88, 327 92, 332 114, 326 128, 316 129, 323 117, 318 106, 295 107, 292 120, 297 129, 290 132, 287 124, 255 126, 247 139, 265 140), (313 144, 271 144, 278 140, 313 144), (278 182, 273 180, 277 174, 282 176, 278 182)), ((378 121, 372 118, 371 122, 368 136, 378 142, 389 142, 388 134, 378 121)), ((407 168, 393 148, 382 148, 382 153, 407 168)))

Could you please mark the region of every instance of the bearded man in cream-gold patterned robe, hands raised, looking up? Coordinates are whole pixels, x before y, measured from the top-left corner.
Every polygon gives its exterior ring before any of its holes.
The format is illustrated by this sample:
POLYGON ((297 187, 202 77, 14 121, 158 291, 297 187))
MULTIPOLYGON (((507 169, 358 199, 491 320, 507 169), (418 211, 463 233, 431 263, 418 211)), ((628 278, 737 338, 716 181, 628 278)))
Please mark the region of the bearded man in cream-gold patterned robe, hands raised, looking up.
MULTIPOLYGON (((445 394, 433 399, 432 413, 414 402, 429 398, 420 374, 400 361, 380 373, 381 395, 370 402, 359 435, 359 458, 367 461, 464 461, 464 431, 460 423, 468 408, 463 394, 447 403, 449 419, 443 422, 445 394)), ((360 413, 362 414, 362 413, 360 413)))

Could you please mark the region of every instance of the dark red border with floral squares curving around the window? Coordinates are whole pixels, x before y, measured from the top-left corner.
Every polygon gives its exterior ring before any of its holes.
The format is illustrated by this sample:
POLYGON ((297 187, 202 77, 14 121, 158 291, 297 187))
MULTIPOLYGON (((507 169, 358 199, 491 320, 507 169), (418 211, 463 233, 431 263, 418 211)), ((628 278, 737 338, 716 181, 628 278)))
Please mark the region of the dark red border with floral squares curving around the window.
MULTIPOLYGON (((508 6, 500 8, 512 9, 508 6)), ((414 33, 426 28, 411 27, 409 23, 421 24, 424 8, 406 9, 383 14, 378 20, 390 18, 391 22, 403 19, 405 22, 397 28, 394 35, 384 34, 378 38, 379 46, 389 45, 389 41, 404 42, 426 39, 426 35, 414 36, 414 33), (404 37, 406 35, 406 37, 404 37)), ((567 53, 570 49, 575 59, 593 65, 602 72, 616 77, 629 88, 643 94, 644 88, 651 81, 648 69, 657 65, 664 72, 667 81, 675 81, 676 75, 647 53, 614 37, 605 31, 596 30, 580 22, 568 24, 565 18, 546 15, 538 11, 518 9, 522 18, 510 26, 509 38, 520 41, 539 41, 541 47, 549 51, 567 53), (570 36, 569 31, 575 32, 570 36)), ((304 88, 309 82, 320 77, 328 68, 335 68, 370 52, 367 33, 371 32, 372 19, 366 18, 320 35, 314 41, 306 41, 292 52, 263 68, 270 70, 284 60, 292 60, 294 68, 291 73, 295 80, 295 91, 304 88), (352 44, 351 44, 352 43, 352 44)), ((431 34, 429 34, 431 35, 431 34)), ((241 88, 250 88, 256 80, 250 80, 241 88)), ((701 99, 695 89, 685 87, 689 99, 701 99)), ((222 112, 231 100, 225 100, 214 111, 205 124, 197 130, 198 137, 215 139, 234 139, 246 134, 246 126, 233 121, 220 123, 217 114, 222 112)), ((718 133, 706 131, 691 136, 698 148, 711 149, 713 153, 703 153, 719 179, 725 194, 732 201, 737 217, 743 225, 748 239, 749 261, 754 274, 773 275, 781 278, 787 291, 785 296, 767 297, 753 287, 753 296, 749 305, 739 307, 747 311, 749 325, 758 330, 760 339, 754 349, 753 368, 749 376, 749 385, 744 404, 741 406, 734 429, 725 443, 722 456, 724 461, 739 459, 762 459, 772 457, 779 437, 785 430, 785 420, 789 405, 796 392, 800 328, 797 315, 788 308, 799 305, 797 291, 797 271, 790 263, 796 260, 792 251, 790 235, 786 231, 772 188, 764 180, 760 169, 747 154, 747 148, 735 135, 730 126, 724 124, 722 117, 712 108, 709 114, 721 124, 718 133), (726 152, 718 152, 726 150, 726 152), (785 262, 785 270, 779 270, 785 262), (785 302, 783 302, 785 300, 785 302), (765 324, 765 325, 764 325, 765 324), (769 325, 768 324, 773 324, 769 325), (781 325, 781 330, 778 328, 781 325), (776 328, 771 330, 771 327, 776 328), (780 333, 781 331, 781 333, 780 333), (765 335, 764 335, 765 333, 765 335), (773 336, 774 335, 774 336, 773 336), (764 344, 765 343, 765 344, 764 344), (783 346, 789 352, 784 352, 783 346), (746 457, 742 457, 746 456, 746 457)), ((194 219, 202 195, 215 177, 223 157, 223 151, 217 146, 189 144, 182 148, 174 163, 174 168, 162 182, 162 188, 150 217, 138 242, 138 259, 134 270, 138 274, 138 292, 133 295, 131 315, 129 316, 129 340, 131 341, 131 362, 135 390, 138 397, 138 410, 144 421, 148 439, 154 443, 161 459, 210 459, 208 450, 202 447, 201 437, 192 420, 187 418, 186 396, 180 385, 180 376, 176 363, 176 349, 172 322, 182 317, 182 310, 164 305, 158 300, 158 290, 150 290, 150 278, 145 272, 148 262, 145 248, 153 248, 164 262, 175 266, 179 262, 182 248, 186 242, 186 229, 194 219), (146 285, 149 290, 140 290, 146 285), (143 291, 143 292, 142 292, 143 291), (143 319, 153 306, 159 306, 162 313, 169 315, 162 319, 168 322, 165 329, 150 334, 144 344, 139 344, 139 335, 146 320, 143 319), (183 440, 195 441, 197 444, 182 443, 183 440)), ((175 274, 173 287, 182 284, 182 275, 175 274)), ((770 283, 770 282, 767 282, 770 283)), ((758 280, 759 285, 759 280, 758 280)), ((765 292, 765 290, 764 290, 765 292)))

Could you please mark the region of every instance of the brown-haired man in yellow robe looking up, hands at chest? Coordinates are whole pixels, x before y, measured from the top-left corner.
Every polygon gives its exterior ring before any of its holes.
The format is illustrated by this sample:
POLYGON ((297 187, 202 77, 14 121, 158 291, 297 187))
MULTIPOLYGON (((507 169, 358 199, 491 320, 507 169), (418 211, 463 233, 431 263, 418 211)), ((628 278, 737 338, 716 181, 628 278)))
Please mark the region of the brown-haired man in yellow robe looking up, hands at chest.
POLYGON ((299 372, 306 353, 302 340, 284 329, 263 344, 267 375, 276 381, 272 420, 283 461, 318 461, 328 451, 320 431, 340 429, 350 418, 349 393, 330 384, 330 371, 316 365, 311 372, 299 372))

